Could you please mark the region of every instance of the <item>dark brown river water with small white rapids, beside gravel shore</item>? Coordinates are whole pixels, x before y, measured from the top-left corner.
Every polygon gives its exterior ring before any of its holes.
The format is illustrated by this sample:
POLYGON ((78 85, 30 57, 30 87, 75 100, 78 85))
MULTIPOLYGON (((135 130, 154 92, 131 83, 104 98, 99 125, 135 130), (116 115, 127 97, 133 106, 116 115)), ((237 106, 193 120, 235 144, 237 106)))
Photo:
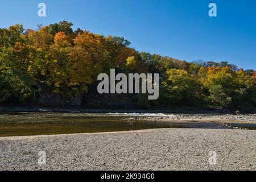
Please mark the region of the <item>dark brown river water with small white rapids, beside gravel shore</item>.
POLYGON ((129 118, 170 117, 173 114, 154 113, 0 113, 0 137, 102 133, 159 128, 203 128, 255 130, 255 124, 131 121, 129 118))

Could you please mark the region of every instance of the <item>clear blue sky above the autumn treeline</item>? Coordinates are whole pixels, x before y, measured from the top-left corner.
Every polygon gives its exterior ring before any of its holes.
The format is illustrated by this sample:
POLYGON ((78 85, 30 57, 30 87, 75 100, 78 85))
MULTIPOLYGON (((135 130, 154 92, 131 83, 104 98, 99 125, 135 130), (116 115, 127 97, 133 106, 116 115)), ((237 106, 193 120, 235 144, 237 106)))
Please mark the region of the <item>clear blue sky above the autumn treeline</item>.
POLYGON ((0 1, 1 28, 67 20, 74 29, 123 36, 138 51, 256 69, 255 0, 0 1), (46 18, 38 16, 40 2, 46 3, 46 18), (208 16, 210 2, 217 4, 216 18, 208 16))

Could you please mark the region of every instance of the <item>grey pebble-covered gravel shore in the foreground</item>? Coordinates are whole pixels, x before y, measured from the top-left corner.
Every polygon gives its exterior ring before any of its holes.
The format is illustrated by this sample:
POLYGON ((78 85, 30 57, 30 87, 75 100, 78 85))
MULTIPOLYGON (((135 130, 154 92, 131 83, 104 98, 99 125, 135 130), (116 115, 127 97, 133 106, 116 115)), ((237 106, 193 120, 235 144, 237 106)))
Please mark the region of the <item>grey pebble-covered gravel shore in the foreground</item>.
POLYGON ((0 138, 0 170, 256 170, 254 130, 154 129, 0 138), (46 152, 46 166, 38 152, 46 152), (209 165, 216 151, 217 165, 209 165))

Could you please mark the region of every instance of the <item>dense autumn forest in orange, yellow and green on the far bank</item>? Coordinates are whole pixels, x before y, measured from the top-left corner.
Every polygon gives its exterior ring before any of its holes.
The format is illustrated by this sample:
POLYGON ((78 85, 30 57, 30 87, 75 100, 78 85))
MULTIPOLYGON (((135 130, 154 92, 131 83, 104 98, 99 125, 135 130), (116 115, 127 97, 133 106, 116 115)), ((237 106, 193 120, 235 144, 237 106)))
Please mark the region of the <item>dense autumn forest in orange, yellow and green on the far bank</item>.
POLYGON ((21 24, 0 29, 2 105, 256 108, 253 69, 138 52, 125 38, 74 31, 72 26, 63 21, 37 30, 25 30, 21 24), (159 99, 148 101, 144 94, 100 96, 97 76, 110 69, 159 73, 159 99))

